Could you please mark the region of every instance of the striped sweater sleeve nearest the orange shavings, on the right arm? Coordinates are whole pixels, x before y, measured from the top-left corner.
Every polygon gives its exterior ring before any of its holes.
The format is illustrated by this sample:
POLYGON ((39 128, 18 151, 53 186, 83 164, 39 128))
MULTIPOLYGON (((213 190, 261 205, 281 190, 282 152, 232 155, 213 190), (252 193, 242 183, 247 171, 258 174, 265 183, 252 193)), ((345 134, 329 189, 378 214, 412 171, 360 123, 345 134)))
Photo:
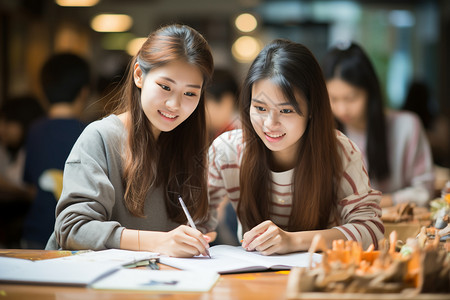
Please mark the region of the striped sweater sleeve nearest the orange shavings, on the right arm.
POLYGON ((381 193, 370 187, 361 152, 348 138, 339 134, 343 176, 338 190, 339 229, 347 239, 358 241, 364 249, 378 248, 384 238, 381 221, 381 193))

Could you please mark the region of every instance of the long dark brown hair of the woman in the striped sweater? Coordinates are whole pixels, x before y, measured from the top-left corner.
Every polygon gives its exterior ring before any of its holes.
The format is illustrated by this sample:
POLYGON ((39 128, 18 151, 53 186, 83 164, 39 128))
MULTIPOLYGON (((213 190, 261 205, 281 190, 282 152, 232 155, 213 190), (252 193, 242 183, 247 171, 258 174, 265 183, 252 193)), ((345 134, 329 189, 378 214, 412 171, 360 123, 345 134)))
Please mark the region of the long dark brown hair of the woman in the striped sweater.
POLYGON ((250 121, 252 86, 262 79, 277 84, 297 113, 301 112, 294 92, 300 92, 306 99, 310 117, 297 155, 287 230, 325 229, 336 206, 342 173, 328 92, 313 54, 301 44, 281 39, 259 53, 242 88, 240 111, 246 146, 240 168, 239 220, 244 230, 249 230, 270 219, 271 151, 250 121))

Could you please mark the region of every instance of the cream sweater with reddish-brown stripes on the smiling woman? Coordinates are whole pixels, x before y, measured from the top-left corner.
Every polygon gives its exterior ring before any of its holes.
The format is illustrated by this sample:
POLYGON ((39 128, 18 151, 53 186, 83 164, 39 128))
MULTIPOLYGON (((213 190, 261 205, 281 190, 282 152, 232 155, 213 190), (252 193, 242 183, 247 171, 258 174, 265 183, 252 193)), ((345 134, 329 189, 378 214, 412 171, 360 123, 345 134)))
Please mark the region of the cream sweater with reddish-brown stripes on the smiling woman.
MULTIPOLYGON (((337 228, 347 239, 361 242, 364 249, 371 244, 378 248, 378 240, 384 237, 379 206, 381 193, 370 187, 368 174, 357 146, 339 131, 337 140, 344 173, 337 193, 337 209, 330 216, 328 228, 337 228)), ((237 208, 243 147, 245 145, 241 129, 223 133, 211 145, 209 149, 211 205, 216 206, 227 197, 233 207, 237 208)), ((294 170, 271 173, 270 219, 284 229, 288 225, 292 209, 294 170)))

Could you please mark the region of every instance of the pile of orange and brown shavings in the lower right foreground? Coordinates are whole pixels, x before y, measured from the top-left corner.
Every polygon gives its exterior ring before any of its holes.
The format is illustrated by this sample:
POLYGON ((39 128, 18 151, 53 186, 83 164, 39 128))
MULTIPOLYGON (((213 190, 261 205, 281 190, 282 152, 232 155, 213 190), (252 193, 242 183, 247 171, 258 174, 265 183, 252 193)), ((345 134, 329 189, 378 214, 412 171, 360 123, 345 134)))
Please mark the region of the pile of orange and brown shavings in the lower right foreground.
POLYGON ((334 241, 331 249, 315 236, 310 253, 322 251, 322 262, 291 270, 290 286, 301 293, 449 293, 450 255, 430 240, 425 228, 398 251, 397 233, 380 242, 380 249, 363 251, 354 241, 334 241))

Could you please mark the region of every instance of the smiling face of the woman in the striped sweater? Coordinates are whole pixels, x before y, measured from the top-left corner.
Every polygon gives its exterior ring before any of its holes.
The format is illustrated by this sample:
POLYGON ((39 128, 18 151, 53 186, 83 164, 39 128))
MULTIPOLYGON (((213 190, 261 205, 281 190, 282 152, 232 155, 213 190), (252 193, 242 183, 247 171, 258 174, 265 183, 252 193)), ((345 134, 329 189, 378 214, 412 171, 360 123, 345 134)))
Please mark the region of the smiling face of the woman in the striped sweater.
POLYGON ((250 120, 256 133, 272 151, 275 162, 289 167, 295 164, 300 139, 308 124, 306 101, 298 92, 295 97, 302 115, 279 86, 270 79, 262 79, 253 84, 250 105, 250 120))

